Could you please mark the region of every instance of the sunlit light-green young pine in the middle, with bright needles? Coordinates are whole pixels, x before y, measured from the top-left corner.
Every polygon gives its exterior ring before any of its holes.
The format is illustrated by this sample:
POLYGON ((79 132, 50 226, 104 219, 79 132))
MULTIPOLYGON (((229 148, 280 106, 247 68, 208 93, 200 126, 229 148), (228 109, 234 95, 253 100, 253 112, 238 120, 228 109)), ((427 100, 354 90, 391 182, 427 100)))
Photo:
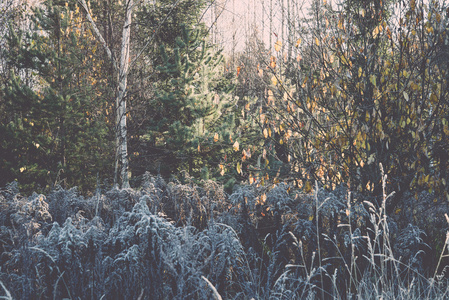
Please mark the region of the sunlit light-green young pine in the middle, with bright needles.
POLYGON ((161 80, 151 103, 156 114, 145 136, 163 160, 161 172, 218 171, 232 149, 234 127, 233 84, 224 75, 221 51, 201 39, 199 30, 183 26, 173 53, 164 45, 161 53, 161 80))

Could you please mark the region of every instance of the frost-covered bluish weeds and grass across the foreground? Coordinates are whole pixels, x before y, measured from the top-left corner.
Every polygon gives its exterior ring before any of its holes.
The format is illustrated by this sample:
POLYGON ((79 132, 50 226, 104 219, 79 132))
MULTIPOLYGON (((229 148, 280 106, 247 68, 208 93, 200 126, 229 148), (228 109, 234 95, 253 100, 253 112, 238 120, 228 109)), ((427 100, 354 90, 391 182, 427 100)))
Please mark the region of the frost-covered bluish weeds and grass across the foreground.
POLYGON ((314 191, 227 195, 212 181, 147 175, 138 190, 86 199, 76 189, 22 197, 10 184, 0 190, 0 299, 449 297, 447 238, 435 249, 421 223, 387 216, 385 191, 379 204, 314 191))

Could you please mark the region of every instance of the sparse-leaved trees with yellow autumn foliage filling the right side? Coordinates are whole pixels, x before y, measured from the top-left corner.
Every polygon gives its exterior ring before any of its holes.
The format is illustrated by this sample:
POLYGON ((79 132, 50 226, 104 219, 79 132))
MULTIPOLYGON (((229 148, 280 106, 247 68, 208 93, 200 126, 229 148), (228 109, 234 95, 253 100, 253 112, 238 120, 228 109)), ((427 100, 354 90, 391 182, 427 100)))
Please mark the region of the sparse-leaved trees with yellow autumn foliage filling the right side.
MULTIPOLYGON (((270 64, 263 136, 280 136, 290 178, 305 190, 317 180, 379 191, 382 163, 396 191, 449 199, 446 8, 411 1, 389 13, 373 3, 338 13, 321 7, 321 25, 297 39, 299 59, 270 59, 278 63, 270 64)), ((282 57, 281 46, 274 49, 282 57)))

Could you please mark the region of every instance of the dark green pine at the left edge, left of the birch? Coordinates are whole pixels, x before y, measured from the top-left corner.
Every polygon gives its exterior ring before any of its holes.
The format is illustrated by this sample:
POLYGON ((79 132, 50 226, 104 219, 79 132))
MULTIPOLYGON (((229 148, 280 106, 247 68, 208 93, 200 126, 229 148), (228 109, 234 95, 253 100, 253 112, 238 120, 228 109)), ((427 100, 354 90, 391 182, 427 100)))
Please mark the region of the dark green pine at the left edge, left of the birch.
POLYGON ((103 65, 80 21, 76 6, 46 1, 27 32, 9 34, 8 65, 17 75, 3 89, 0 184, 92 190, 97 175, 108 173, 103 65))

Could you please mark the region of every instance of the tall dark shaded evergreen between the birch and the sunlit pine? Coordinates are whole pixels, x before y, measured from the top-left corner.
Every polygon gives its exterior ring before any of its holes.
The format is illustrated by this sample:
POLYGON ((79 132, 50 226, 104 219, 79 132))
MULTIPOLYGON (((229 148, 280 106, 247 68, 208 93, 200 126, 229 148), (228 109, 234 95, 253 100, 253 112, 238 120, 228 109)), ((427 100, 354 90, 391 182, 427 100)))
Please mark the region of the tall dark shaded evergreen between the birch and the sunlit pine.
POLYGON ((206 1, 204 0, 156 0, 140 5, 136 9, 136 21, 133 29, 134 53, 138 53, 129 74, 129 93, 127 94, 128 147, 130 171, 135 179, 146 171, 157 173, 160 158, 164 156, 162 148, 155 149, 147 139, 149 127, 154 127, 160 112, 154 109, 150 99, 154 99, 155 89, 160 86, 161 78, 158 66, 164 65, 161 45, 167 53, 176 48, 176 38, 182 35, 182 24, 200 30, 207 35, 203 23, 206 1), (143 137, 142 137, 143 136, 143 137))

